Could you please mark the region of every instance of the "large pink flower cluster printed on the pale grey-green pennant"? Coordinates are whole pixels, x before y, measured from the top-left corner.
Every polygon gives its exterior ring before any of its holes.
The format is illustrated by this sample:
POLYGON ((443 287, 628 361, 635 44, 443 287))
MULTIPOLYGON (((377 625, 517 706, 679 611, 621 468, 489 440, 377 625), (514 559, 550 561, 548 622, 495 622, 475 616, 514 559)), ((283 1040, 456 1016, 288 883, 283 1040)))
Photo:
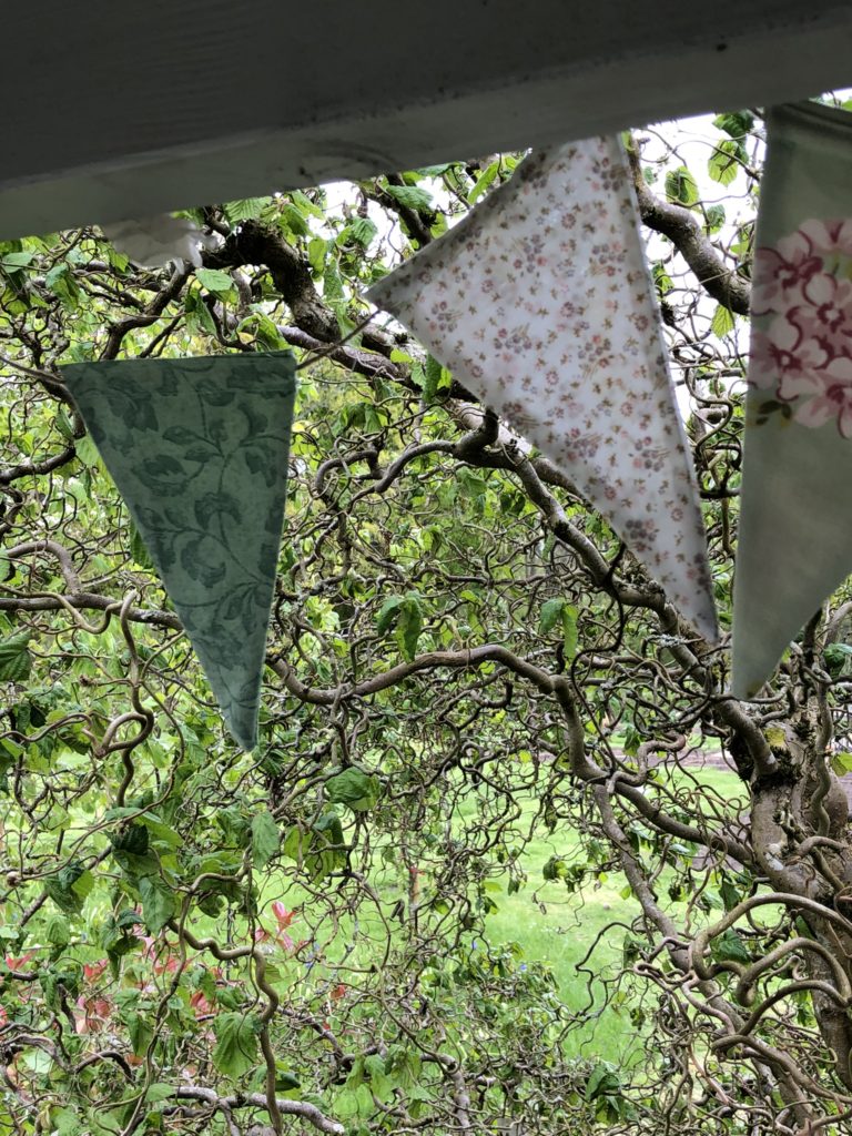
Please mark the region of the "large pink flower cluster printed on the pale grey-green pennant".
POLYGON ((810 219, 754 259, 750 382, 802 426, 852 437, 852 219, 810 219))

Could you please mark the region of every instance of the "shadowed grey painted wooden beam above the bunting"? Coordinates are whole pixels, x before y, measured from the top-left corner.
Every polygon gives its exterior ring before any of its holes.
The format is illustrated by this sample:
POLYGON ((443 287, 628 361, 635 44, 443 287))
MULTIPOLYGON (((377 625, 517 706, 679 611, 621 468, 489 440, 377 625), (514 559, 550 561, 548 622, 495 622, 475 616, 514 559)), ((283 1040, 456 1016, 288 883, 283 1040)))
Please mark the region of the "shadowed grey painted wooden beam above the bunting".
POLYGON ((0 239, 852 84, 849 0, 16 0, 0 239))

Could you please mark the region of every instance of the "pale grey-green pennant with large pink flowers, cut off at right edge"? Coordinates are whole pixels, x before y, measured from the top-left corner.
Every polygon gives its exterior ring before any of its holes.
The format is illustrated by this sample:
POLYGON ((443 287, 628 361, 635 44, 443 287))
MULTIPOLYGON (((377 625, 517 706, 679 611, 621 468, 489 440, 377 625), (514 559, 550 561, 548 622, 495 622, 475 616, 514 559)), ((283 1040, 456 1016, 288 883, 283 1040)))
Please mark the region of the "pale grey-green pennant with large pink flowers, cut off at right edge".
POLYGON ((733 691, 753 698, 852 571, 852 115, 768 116, 753 270, 733 691))

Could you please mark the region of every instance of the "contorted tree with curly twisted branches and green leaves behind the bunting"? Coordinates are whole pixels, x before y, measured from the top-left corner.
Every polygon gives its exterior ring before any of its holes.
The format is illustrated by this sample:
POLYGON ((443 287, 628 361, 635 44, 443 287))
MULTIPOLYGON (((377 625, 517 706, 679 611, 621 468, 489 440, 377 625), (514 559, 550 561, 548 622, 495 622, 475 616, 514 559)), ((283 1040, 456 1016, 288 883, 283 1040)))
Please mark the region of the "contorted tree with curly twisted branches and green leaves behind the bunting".
MULTIPOLYGON (((704 143, 736 219, 629 142, 726 627, 760 135, 704 143)), ((560 470, 393 325, 339 343, 516 160, 207 207, 195 272, 98 229, 0 245, 5 1129, 845 1130, 852 596, 740 703, 560 470), (58 368, 287 345, 320 354, 247 755, 58 368), (488 921, 612 872, 624 964, 571 1011, 488 921), (633 1063, 571 1047, 605 1003, 633 1063)))

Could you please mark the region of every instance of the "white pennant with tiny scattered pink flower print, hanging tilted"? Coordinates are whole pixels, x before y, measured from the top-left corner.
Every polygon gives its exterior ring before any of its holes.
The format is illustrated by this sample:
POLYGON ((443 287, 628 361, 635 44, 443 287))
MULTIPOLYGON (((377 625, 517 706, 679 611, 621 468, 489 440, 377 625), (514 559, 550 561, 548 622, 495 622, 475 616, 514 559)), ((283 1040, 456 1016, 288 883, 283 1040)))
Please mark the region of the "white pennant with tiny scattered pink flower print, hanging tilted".
POLYGON ((531 153, 367 295, 578 484, 716 640, 695 478, 617 139, 531 153))

